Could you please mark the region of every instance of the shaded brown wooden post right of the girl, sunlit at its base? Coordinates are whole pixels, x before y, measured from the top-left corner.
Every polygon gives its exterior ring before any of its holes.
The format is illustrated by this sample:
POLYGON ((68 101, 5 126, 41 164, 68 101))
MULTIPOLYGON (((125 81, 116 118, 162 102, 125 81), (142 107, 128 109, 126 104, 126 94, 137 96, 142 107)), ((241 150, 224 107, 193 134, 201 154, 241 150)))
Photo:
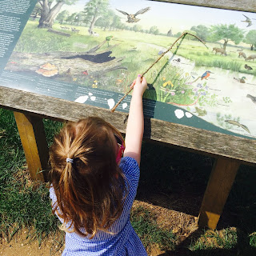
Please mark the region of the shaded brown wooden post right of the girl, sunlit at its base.
POLYGON ((208 226, 210 229, 216 228, 239 166, 240 163, 232 159, 217 158, 215 160, 202 199, 198 226, 208 226))

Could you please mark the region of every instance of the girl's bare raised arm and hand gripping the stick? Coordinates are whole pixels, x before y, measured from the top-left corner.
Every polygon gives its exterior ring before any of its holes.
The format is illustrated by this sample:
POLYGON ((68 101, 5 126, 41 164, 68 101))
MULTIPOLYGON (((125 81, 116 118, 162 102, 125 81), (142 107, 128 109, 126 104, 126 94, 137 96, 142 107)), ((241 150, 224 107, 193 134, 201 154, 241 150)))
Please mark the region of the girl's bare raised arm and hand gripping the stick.
POLYGON ((124 157, 134 158, 141 162, 142 138, 144 133, 144 115, 142 106, 142 96, 146 90, 146 78, 138 74, 134 80, 134 91, 130 101, 130 111, 126 126, 126 150, 124 157))

